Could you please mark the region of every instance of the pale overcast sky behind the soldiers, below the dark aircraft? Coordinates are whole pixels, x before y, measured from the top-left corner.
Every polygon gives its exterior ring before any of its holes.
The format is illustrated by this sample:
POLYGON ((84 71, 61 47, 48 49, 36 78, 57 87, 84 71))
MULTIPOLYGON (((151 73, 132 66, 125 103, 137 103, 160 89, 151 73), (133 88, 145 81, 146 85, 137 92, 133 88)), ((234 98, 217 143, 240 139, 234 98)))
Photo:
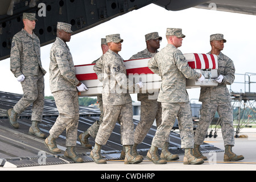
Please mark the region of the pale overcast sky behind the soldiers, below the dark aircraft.
MULTIPOLYGON (((218 7, 217 7, 218 8, 218 7)), ((228 13, 215 10, 191 8, 181 11, 168 11, 151 4, 139 10, 118 16, 99 26, 73 35, 68 46, 75 65, 90 64, 101 56, 101 38, 106 35, 120 34, 124 40, 119 55, 127 60, 135 53, 146 48, 144 35, 158 32, 163 37, 160 49, 167 45, 166 28, 182 28, 186 36, 179 48, 183 53, 207 53, 210 51, 209 36, 221 33, 227 40, 222 53, 233 60, 238 75, 236 81, 243 82, 245 73, 256 73, 256 16, 228 13)), ((21 29, 22 27, 20 27, 21 29)), ((52 96, 49 90, 49 51, 52 44, 41 48, 41 60, 47 74, 45 95, 52 96)), ((22 86, 10 71, 10 59, 0 61, 0 90, 22 94, 22 86)), ((256 76, 251 76, 256 81, 256 76)), ((254 84, 256 85, 256 84, 254 84)), ((230 87, 228 87, 230 88, 230 87)), ((233 84, 232 90, 244 92, 244 84, 233 84)), ((247 89, 247 88, 246 88, 247 89)), ((188 89, 190 99, 199 98, 200 89, 188 89)), ((248 92, 248 90, 246 90, 248 92)), ((251 92, 256 92, 251 86, 251 92)), ((137 100, 132 94, 133 100, 137 100)))

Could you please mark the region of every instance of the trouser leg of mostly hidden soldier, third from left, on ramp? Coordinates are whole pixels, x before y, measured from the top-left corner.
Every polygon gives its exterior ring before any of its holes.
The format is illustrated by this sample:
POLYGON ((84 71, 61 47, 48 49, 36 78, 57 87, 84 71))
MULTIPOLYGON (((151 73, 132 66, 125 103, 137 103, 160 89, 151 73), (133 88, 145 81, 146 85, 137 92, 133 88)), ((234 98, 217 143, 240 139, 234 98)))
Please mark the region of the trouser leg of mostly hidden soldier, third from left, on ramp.
POLYGON ((88 128, 88 130, 87 130, 88 133, 89 133, 89 135, 90 135, 91 137, 93 137, 93 138, 96 138, 96 135, 97 135, 97 133, 98 133, 98 129, 100 128, 100 125, 101 125, 102 120, 103 120, 103 115, 104 115, 104 113, 103 113, 102 95, 97 97, 97 102, 98 102, 98 104, 100 105, 100 111, 101 111, 100 120, 94 122, 93 125, 90 126, 90 127, 88 128))

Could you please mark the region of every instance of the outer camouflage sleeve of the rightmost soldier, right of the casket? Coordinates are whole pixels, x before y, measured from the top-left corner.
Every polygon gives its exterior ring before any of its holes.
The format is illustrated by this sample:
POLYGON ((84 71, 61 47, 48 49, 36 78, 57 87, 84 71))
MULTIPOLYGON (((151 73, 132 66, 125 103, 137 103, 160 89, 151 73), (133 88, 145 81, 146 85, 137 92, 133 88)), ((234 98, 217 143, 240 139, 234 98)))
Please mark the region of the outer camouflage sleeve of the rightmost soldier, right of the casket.
POLYGON ((231 85, 233 84, 234 82, 234 78, 235 78, 235 72, 236 72, 236 69, 234 67, 234 63, 233 61, 227 57, 227 64, 226 64, 226 67, 225 67, 225 74, 223 75, 223 81, 222 83, 226 84, 226 85, 231 85))

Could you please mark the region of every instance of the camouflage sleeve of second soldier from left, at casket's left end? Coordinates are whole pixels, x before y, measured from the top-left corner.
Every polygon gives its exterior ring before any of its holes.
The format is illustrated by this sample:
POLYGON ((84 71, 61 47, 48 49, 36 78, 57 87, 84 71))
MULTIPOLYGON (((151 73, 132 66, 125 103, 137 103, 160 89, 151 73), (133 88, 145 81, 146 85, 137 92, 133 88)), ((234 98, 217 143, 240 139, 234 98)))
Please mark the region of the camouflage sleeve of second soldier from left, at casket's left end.
POLYGON ((68 53, 64 51, 62 48, 56 48, 55 57, 61 75, 66 80, 71 82, 72 85, 76 86, 77 84, 79 84, 79 80, 77 80, 75 72, 72 71, 69 65, 68 53))

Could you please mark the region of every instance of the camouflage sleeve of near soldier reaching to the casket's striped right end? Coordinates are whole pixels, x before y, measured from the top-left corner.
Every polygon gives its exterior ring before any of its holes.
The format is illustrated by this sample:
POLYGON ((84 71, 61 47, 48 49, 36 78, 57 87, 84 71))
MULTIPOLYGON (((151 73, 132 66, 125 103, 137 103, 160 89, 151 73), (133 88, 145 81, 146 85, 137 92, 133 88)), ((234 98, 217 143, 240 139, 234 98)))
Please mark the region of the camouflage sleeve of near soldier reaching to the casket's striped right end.
POLYGON ((174 53, 174 61, 183 75, 188 79, 196 79, 200 77, 200 73, 197 73, 188 65, 188 61, 185 59, 185 56, 181 52, 174 53))

